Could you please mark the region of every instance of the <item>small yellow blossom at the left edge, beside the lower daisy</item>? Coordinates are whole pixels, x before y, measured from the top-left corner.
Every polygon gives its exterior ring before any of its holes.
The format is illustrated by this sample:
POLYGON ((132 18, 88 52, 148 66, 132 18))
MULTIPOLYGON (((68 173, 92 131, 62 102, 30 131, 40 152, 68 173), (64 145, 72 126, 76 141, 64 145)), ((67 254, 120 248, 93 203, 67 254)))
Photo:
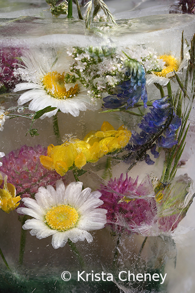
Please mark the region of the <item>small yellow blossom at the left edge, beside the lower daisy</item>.
MULTIPOLYGON (((2 175, 0 174, 0 185, 1 183, 2 175)), ((3 188, 0 188, 0 209, 9 213, 19 206, 20 199, 20 196, 16 197, 16 188, 11 183, 7 183, 7 176, 5 176, 3 188)))

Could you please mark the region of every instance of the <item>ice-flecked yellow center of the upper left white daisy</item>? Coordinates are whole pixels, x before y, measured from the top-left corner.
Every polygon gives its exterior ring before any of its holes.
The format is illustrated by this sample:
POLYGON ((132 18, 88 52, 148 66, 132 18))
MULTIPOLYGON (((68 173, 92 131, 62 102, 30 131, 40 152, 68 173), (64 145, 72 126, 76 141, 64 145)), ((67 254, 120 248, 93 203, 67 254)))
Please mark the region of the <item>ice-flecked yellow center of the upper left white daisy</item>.
POLYGON ((68 99, 77 95, 79 92, 78 84, 65 86, 64 73, 60 74, 57 71, 49 72, 44 75, 42 84, 49 95, 56 99, 68 99))

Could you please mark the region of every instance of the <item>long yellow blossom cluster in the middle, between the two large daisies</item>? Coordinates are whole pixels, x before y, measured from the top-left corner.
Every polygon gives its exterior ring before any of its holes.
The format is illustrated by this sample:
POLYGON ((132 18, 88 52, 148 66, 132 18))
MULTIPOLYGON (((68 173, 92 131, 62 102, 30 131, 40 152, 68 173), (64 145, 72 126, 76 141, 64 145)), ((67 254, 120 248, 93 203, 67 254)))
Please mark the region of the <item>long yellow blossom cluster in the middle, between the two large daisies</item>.
POLYGON ((117 130, 105 122, 100 131, 90 131, 83 139, 65 142, 61 146, 49 145, 47 156, 40 156, 40 163, 47 169, 55 169, 63 176, 69 169, 81 169, 86 163, 95 163, 99 158, 126 146, 131 131, 125 126, 117 130))

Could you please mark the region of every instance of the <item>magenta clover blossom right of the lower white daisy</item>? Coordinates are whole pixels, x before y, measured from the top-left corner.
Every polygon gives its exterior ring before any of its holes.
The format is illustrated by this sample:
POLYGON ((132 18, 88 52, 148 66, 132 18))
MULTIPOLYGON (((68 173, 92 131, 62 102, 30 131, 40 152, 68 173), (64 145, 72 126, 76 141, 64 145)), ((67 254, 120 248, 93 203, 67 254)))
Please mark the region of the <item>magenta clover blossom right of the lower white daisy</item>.
POLYGON ((141 184, 131 177, 120 178, 108 182, 107 186, 101 186, 101 200, 104 204, 101 208, 107 209, 107 223, 114 231, 143 230, 156 223, 156 200, 149 176, 141 184))

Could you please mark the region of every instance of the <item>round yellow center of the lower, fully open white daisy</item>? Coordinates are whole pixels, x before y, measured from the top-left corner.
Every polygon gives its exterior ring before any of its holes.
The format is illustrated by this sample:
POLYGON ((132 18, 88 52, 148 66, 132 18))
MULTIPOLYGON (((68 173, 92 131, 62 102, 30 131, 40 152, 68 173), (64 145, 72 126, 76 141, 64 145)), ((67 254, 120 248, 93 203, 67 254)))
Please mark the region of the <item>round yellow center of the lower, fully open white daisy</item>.
POLYGON ((66 231, 75 227, 78 212, 69 205, 59 205, 48 210, 45 223, 53 230, 66 231))

